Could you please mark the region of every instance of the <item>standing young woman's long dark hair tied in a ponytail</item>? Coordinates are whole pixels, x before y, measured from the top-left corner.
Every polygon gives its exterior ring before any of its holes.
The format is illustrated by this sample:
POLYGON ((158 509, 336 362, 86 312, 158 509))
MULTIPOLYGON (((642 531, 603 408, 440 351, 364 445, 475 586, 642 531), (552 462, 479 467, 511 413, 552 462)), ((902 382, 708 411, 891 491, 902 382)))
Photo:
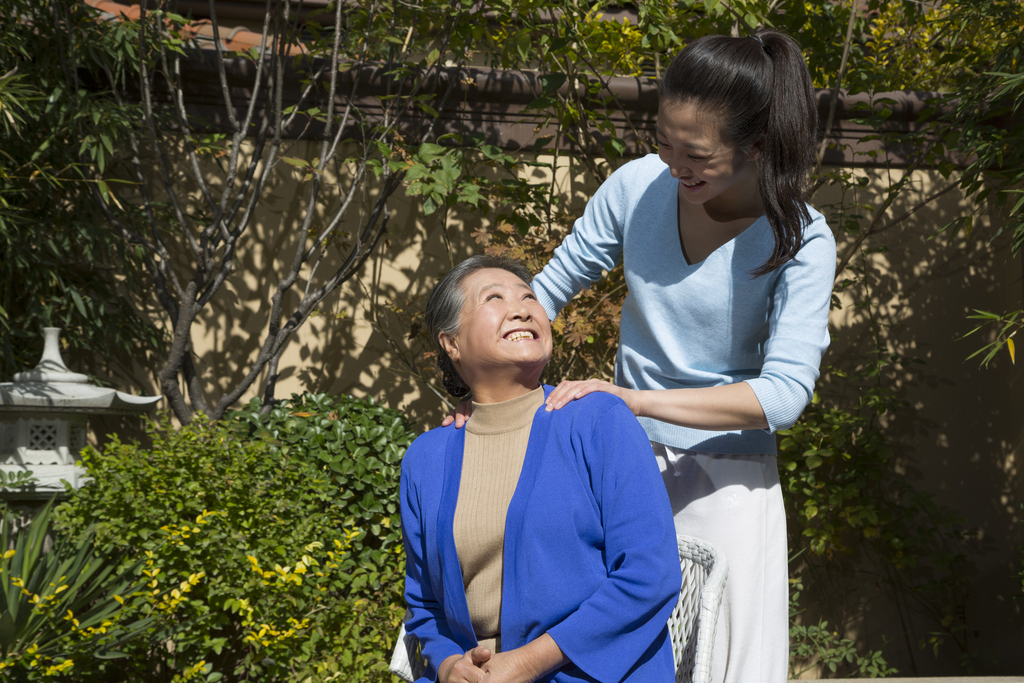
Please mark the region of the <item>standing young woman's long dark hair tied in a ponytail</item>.
POLYGON ((818 137, 814 88, 797 43, 777 31, 698 38, 672 60, 659 93, 663 102, 723 117, 722 134, 742 152, 760 147, 758 183, 775 247, 753 274, 793 260, 811 221, 804 200, 818 137))

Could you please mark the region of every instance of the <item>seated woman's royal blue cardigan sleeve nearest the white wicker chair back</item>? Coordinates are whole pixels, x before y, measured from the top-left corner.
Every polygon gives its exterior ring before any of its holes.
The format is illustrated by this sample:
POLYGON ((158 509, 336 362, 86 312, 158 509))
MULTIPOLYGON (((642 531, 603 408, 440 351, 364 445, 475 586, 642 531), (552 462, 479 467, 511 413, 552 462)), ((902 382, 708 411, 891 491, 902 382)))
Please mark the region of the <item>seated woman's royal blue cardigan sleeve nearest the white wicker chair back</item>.
POLYGON ((669 497, 640 423, 617 398, 591 419, 579 442, 600 506, 607 579, 548 634, 588 675, 621 681, 667 629, 682 574, 669 497))

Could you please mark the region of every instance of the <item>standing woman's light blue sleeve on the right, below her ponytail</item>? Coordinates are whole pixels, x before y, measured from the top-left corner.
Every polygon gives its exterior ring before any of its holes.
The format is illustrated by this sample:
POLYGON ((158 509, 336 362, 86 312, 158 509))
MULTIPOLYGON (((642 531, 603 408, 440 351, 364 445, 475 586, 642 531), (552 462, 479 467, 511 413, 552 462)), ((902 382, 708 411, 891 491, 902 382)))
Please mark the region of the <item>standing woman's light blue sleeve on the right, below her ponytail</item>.
POLYGON ((773 432, 792 427, 814 396, 829 341, 836 240, 820 215, 805 234, 797 258, 780 268, 761 375, 748 380, 773 432))

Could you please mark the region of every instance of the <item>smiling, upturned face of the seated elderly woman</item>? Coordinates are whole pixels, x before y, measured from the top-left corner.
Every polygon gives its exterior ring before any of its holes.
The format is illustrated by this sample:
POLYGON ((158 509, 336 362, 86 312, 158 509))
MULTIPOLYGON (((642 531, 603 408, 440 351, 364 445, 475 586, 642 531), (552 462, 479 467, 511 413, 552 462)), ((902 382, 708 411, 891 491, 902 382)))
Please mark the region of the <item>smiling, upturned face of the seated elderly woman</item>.
MULTIPOLYGON (((472 386, 474 372, 536 367, 551 357, 551 324, 529 285, 502 268, 484 268, 463 282, 466 303, 459 333, 445 347, 472 386)), ((443 337, 442 337, 443 340, 443 337)))

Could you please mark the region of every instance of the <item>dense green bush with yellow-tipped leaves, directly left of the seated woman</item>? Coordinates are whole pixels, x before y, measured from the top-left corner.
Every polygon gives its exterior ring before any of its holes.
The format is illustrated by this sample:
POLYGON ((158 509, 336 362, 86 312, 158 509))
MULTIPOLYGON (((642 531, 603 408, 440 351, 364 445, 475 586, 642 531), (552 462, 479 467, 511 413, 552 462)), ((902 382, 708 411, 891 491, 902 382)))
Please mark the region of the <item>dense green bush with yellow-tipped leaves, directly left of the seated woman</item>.
POLYGON ((262 426, 254 403, 230 422, 154 425, 150 449, 115 439, 84 454, 93 482, 60 507, 59 528, 94 526, 153 581, 195 580, 166 637, 124 646, 125 680, 389 680, 410 433, 371 403, 313 398, 331 410, 297 398, 262 426))

